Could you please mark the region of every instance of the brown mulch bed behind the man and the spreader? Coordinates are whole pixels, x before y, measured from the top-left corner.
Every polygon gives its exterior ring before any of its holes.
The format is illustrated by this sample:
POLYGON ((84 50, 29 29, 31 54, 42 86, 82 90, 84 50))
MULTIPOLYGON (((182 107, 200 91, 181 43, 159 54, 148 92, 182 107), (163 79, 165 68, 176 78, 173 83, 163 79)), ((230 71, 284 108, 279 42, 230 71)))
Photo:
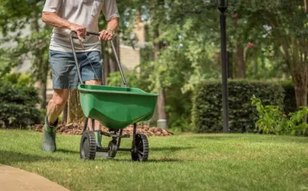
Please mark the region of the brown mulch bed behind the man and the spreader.
MULTIPOLYGON (((37 124, 33 126, 33 130, 37 132, 42 132, 42 127, 44 124, 37 124)), ((73 123, 59 123, 57 133, 60 134, 72 134, 72 135, 81 135, 83 126, 73 123)), ((108 132, 108 129, 103 127, 103 131, 108 132)), ((137 133, 146 134, 146 136, 170 136, 172 132, 167 130, 163 130, 162 128, 150 128, 150 126, 146 125, 138 125, 137 133)), ((123 129, 123 134, 133 134, 133 126, 128 126, 127 128, 123 129)))

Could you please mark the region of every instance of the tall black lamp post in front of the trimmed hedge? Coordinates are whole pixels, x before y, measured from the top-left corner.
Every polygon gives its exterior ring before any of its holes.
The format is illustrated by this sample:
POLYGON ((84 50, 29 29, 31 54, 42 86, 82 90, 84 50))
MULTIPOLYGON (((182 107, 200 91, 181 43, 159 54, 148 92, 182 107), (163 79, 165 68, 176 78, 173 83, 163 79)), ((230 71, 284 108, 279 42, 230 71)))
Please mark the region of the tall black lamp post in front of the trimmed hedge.
POLYGON ((220 34, 221 34, 221 64, 222 64, 222 110, 223 132, 229 132, 229 106, 228 106, 228 65, 227 65, 227 37, 226 16, 227 0, 217 0, 220 10, 220 34))

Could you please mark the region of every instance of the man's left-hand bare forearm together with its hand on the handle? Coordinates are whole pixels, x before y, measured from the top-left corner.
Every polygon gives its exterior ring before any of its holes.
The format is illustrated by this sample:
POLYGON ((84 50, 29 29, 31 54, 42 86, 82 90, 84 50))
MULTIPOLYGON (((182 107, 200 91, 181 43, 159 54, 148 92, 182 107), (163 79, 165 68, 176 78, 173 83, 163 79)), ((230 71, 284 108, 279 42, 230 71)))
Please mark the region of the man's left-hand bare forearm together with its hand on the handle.
POLYGON ((70 23, 68 20, 57 16, 53 12, 42 12, 42 21, 53 27, 70 29, 70 31, 76 31, 78 38, 84 38, 86 36, 86 27, 70 23))

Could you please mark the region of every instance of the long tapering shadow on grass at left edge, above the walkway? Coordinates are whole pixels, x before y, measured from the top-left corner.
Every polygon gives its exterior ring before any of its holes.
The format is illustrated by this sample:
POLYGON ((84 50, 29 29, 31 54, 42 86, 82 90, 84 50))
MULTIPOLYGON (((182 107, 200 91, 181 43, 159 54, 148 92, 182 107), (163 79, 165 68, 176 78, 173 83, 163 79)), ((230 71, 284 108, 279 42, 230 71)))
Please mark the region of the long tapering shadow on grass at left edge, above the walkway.
POLYGON ((0 149, 0 163, 1 164, 14 164, 16 162, 36 162, 44 160, 54 160, 58 161, 60 159, 53 158, 51 156, 38 156, 27 153, 21 153, 16 151, 4 151, 0 149))

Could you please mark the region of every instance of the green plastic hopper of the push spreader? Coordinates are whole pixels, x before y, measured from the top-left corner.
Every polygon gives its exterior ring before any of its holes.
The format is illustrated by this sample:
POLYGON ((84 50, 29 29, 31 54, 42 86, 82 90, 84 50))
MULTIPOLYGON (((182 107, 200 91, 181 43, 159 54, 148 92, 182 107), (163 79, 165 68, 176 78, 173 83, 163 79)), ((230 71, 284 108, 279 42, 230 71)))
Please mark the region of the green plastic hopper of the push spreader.
POLYGON ((113 129, 151 119, 158 96, 137 88, 104 85, 81 84, 78 90, 84 115, 113 129))

